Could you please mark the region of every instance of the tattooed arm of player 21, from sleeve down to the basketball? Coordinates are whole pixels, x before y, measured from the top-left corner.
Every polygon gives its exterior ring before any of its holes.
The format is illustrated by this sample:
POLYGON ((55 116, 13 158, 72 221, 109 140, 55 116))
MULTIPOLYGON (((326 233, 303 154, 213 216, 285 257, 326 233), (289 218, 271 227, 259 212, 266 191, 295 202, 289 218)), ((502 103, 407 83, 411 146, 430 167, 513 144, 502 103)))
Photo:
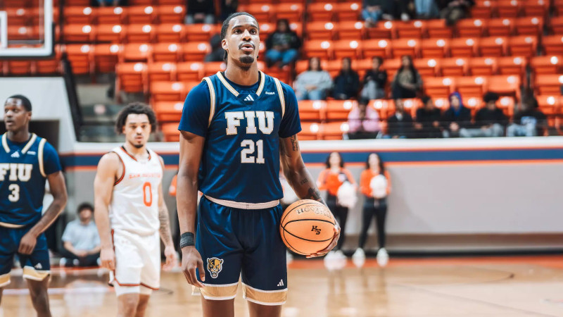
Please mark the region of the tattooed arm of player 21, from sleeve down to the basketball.
POLYGON ((315 180, 305 168, 297 135, 280 139, 280 160, 289 185, 300 199, 313 199, 326 204, 315 180))

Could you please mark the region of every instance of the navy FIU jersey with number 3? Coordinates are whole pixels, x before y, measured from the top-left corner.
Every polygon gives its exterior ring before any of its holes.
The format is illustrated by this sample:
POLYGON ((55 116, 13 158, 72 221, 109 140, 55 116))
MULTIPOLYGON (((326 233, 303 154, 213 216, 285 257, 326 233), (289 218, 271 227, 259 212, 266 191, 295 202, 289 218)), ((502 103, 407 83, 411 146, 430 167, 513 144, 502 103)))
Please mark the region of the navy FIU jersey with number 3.
POLYGON ((46 177, 59 170, 57 152, 46 139, 32 133, 27 142, 16 143, 4 133, 0 149, 0 225, 37 223, 46 177))

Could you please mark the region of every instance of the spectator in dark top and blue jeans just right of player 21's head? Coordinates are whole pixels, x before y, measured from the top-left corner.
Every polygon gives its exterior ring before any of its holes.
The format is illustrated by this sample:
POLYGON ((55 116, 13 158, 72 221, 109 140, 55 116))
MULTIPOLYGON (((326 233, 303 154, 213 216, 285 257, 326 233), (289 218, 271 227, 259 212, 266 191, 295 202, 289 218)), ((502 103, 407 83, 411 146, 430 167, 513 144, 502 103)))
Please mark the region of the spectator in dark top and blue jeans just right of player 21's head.
POLYGON ((279 68, 293 63, 299 57, 301 39, 289 27, 287 19, 277 21, 276 30, 266 39, 266 63, 270 67, 279 63, 279 68))

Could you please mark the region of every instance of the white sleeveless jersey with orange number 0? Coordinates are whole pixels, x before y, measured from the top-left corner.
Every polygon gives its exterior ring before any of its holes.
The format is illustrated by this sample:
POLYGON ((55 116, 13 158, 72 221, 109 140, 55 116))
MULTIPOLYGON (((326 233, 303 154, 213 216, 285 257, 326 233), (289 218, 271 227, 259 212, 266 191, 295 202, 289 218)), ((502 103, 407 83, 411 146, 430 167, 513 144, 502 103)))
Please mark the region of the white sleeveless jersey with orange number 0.
POLYGON ((138 235, 151 235, 160 226, 158 219, 158 187, 163 180, 163 166, 158 155, 148 150, 148 161, 137 161, 124 147, 116 147, 124 168, 113 185, 109 206, 113 230, 126 230, 138 235))

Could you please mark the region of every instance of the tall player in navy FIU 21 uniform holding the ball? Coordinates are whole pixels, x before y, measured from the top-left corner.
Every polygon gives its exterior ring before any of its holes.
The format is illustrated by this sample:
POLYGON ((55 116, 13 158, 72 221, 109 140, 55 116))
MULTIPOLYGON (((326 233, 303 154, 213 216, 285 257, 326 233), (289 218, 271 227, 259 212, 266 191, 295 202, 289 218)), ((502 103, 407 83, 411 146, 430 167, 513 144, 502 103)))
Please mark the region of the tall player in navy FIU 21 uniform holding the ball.
MULTIPOLYGON (((284 174, 298 197, 322 201, 301 159, 295 93, 258 70, 258 30, 248 13, 224 21, 227 69, 191 90, 179 124, 182 270, 201 290, 204 316, 234 316, 240 276, 251 316, 281 314, 287 271, 279 235, 280 151, 284 174), (203 197, 196 230, 198 189, 203 197)), ((329 247, 310 256, 326 254, 339 235, 336 225, 329 247)))

